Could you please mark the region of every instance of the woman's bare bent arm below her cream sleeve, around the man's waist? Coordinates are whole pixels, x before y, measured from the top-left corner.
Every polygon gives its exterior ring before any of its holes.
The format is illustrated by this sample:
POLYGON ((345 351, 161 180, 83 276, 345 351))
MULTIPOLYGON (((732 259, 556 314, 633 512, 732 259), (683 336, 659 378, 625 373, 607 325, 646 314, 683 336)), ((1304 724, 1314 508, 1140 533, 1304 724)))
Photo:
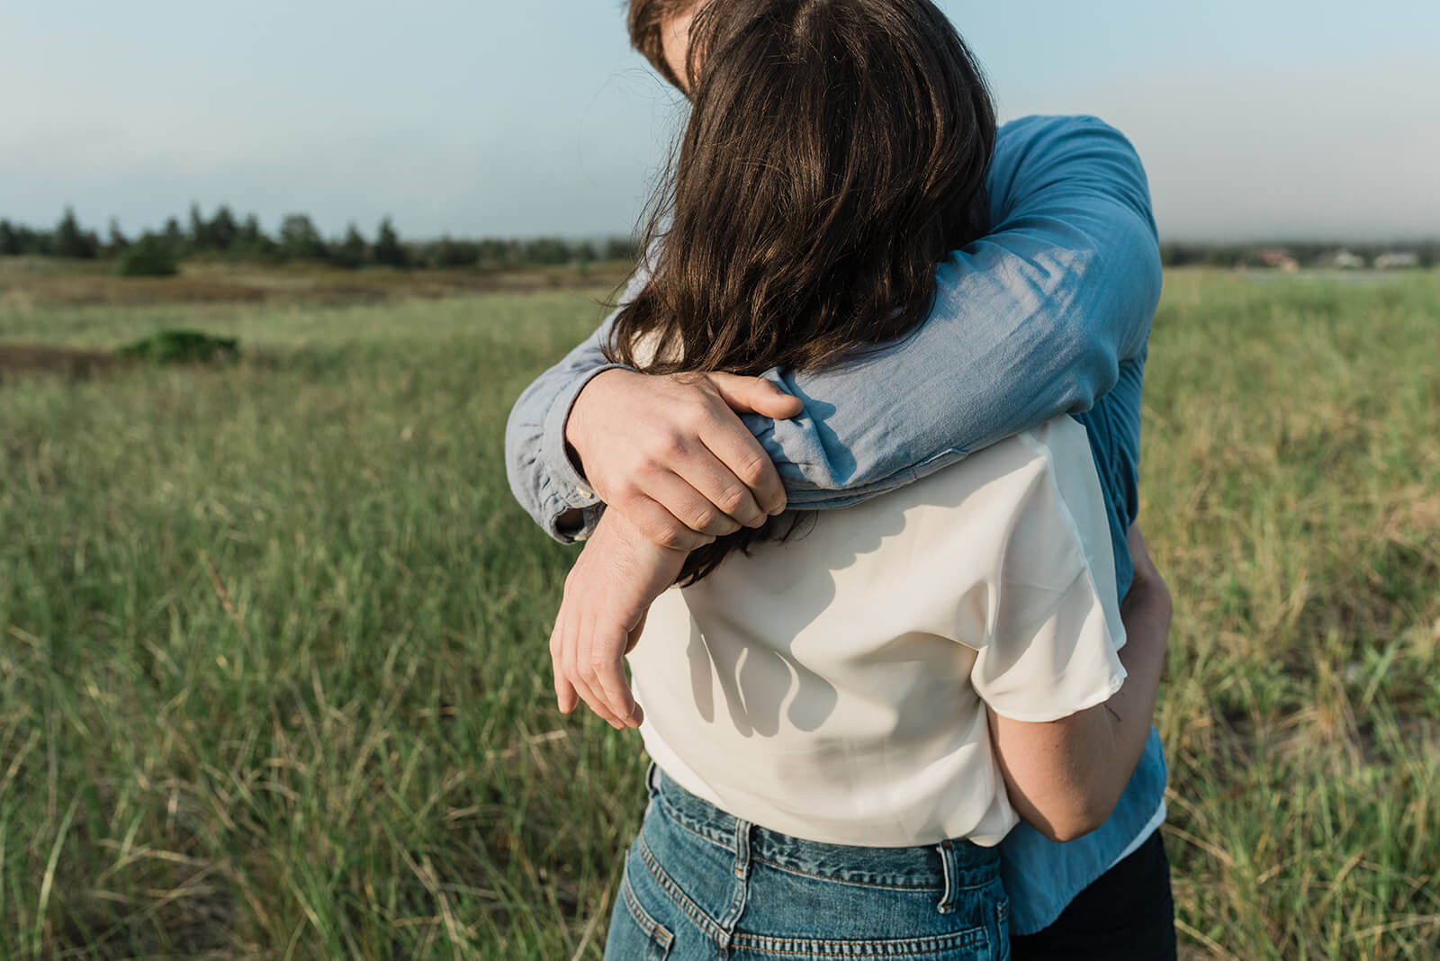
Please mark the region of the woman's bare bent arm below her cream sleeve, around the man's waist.
POLYGON ((1106 703, 1027 724, 989 712, 991 739, 1011 806, 1054 842, 1087 834, 1110 816, 1145 750, 1165 666, 1171 596, 1138 525, 1126 537, 1135 580, 1120 617, 1125 685, 1106 703))

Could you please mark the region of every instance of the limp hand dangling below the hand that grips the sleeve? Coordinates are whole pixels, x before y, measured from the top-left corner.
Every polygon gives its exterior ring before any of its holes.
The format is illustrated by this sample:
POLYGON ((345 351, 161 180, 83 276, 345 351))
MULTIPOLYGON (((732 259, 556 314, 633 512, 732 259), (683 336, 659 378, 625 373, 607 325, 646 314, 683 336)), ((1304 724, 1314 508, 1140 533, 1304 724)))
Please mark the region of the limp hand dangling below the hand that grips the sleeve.
POLYGON ((649 606, 675 583, 685 551, 647 539, 618 511, 606 511, 564 578, 564 600, 550 634, 560 711, 583 698, 615 729, 645 719, 621 659, 639 640, 649 606))

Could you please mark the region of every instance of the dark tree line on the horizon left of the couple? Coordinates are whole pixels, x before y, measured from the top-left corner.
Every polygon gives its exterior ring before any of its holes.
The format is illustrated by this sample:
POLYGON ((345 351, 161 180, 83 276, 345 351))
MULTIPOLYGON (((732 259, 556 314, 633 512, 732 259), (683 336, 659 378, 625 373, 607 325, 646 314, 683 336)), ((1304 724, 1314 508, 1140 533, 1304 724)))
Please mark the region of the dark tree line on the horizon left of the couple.
POLYGON ((177 217, 160 230, 145 230, 130 237, 115 220, 102 237, 81 226, 75 210, 65 209, 52 230, 29 227, 0 217, 0 256, 49 256, 75 260, 114 259, 121 273, 166 275, 190 256, 219 256, 249 260, 308 260, 336 268, 359 269, 386 266, 400 269, 544 266, 592 263, 595 260, 634 260, 635 242, 611 237, 602 242, 564 237, 482 237, 403 240, 390 217, 384 217, 374 239, 367 239, 354 223, 344 236, 327 239, 302 213, 287 214, 279 232, 265 232, 259 217, 236 217, 220 204, 206 217, 199 204, 190 206, 186 226, 177 217))

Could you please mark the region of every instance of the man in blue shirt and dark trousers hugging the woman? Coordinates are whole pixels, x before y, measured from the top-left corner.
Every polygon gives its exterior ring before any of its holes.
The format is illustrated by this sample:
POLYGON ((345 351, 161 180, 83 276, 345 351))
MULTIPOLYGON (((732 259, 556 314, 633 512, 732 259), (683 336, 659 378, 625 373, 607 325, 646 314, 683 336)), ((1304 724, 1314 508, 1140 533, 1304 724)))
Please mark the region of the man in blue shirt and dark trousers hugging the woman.
MULTIPOLYGON (((694 6, 631 3, 632 42, 681 89, 694 6)), ((606 364, 608 325, 521 396, 507 432, 517 498, 563 541, 595 532, 567 580, 552 646, 563 709, 583 698, 615 727, 638 722, 619 655, 674 571, 616 563, 626 538, 644 535, 683 557, 786 504, 854 504, 1064 411, 1086 411, 1126 629, 1168 630, 1164 581, 1138 531, 1126 538, 1159 293, 1143 171, 1099 121, 1027 118, 1001 131, 988 186, 992 233, 940 265, 924 327, 842 367, 775 371, 788 396, 762 378, 647 377, 606 364), (732 407, 749 411, 743 424, 732 407), (562 627, 575 604, 622 626, 603 656, 579 656, 575 632, 562 627)), ((1011 833, 1002 849, 1011 925, 1030 935, 1015 939, 1015 957, 1174 955, 1156 833, 1164 783, 1152 732, 1100 830, 1067 844, 1025 826, 1011 833)))

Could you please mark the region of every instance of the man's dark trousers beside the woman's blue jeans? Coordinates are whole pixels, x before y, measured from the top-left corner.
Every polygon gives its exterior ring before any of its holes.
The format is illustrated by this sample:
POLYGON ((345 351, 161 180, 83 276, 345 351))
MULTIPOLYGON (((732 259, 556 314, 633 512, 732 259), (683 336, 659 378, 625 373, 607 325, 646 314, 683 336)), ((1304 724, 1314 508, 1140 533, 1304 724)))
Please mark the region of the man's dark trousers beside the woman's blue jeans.
POLYGON ((1044 931, 1011 938, 1014 961, 1174 961, 1175 902, 1161 833, 1100 875, 1044 931))

